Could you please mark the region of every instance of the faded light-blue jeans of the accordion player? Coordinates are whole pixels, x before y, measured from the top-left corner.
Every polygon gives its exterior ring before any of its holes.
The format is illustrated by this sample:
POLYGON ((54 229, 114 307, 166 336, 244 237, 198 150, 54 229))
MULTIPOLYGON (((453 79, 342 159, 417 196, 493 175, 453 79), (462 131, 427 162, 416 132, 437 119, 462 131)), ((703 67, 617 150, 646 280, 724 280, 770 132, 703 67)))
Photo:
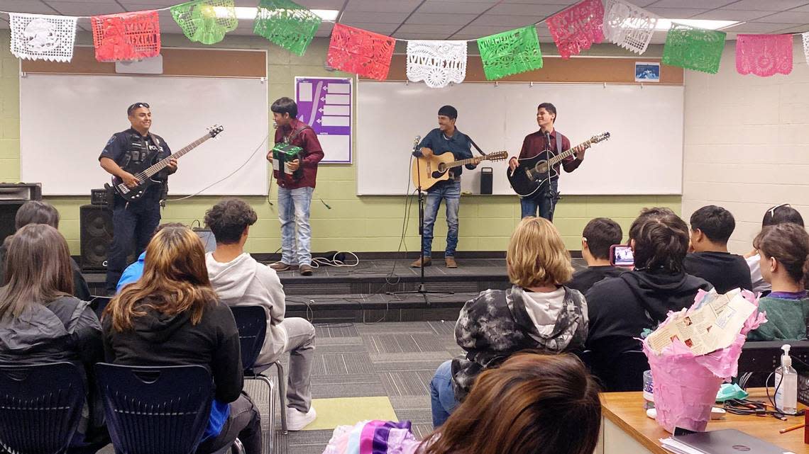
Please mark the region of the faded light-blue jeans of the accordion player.
POLYGON ((281 261, 287 265, 311 264, 309 207, 314 187, 278 187, 278 221, 281 221, 281 261), (295 231, 297 230, 297 247, 295 231))

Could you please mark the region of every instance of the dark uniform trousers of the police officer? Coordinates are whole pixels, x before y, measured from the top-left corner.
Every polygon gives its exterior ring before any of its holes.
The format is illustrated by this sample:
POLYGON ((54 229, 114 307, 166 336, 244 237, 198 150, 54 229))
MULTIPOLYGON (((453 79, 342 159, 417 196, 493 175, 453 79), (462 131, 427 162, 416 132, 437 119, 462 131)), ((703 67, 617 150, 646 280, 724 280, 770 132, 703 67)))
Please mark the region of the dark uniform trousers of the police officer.
MULTIPOLYGON (((152 187, 150 191, 159 191, 152 187)), ((148 193, 147 193, 148 194, 148 193)), ((138 257, 160 224, 159 198, 143 199, 130 204, 116 195, 112 208, 112 245, 107 255, 107 279, 104 288, 114 294, 121 273, 129 264, 126 259, 132 250, 138 257)))

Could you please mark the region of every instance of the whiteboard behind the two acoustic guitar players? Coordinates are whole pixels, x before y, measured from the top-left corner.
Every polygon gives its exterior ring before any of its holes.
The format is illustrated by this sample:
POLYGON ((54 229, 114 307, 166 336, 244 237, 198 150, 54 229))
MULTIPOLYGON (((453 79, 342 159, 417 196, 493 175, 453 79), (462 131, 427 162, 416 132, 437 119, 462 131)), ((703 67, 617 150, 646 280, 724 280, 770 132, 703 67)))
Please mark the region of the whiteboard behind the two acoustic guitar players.
MULTIPOLYGON (((416 135, 438 127, 438 108, 458 109, 455 126, 486 153, 519 155, 536 132, 536 106, 557 107, 556 128, 571 145, 608 131, 608 141, 587 150, 582 165, 564 173, 569 195, 680 194, 683 173, 683 86, 463 83, 445 88, 404 82, 358 83, 357 192, 399 195, 408 189, 416 135)), ((477 155, 477 151, 472 149, 477 155)), ((493 193, 514 195, 506 161, 464 169, 461 190, 480 193, 480 168, 493 167, 493 193)), ((411 183, 409 186, 413 191, 411 183)))

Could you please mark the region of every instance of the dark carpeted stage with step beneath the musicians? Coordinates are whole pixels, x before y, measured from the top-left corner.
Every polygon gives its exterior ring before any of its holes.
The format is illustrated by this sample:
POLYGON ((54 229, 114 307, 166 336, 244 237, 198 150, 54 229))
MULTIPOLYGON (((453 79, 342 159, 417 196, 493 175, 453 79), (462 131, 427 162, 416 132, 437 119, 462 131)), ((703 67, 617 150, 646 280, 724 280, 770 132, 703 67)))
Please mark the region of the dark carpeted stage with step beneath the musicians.
MULTIPOLYGON (((415 322, 456 320, 464 303, 487 288, 510 287, 506 259, 458 258, 457 268, 443 259, 425 268, 429 291, 452 294, 388 295, 387 292, 418 288, 420 270, 413 258, 362 259, 356 267, 315 269, 314 275, 298 271, 278 273, 286 292, 286 317, 305 317, 316 324, 338 322, 415 322)), ((584 267, 574 259, 574 267, 584 267)), ((94 294, 103 294, 104 274, 84 273, 94 294)))

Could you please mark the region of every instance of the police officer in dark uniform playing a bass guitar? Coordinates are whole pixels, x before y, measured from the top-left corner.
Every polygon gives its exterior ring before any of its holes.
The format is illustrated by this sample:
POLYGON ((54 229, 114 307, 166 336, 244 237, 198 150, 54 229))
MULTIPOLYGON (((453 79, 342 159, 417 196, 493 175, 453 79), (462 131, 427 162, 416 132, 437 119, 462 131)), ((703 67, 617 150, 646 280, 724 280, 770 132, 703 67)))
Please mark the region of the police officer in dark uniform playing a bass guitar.
MULTIPOLYGON (((152 165, 167 158, 172 150, 163 137, 149 132, 151 111, 147 103, 134 103, 126 109, 132 128, 116 132, 110 137, 99 162, 104 170, 120 179, 127 187, 136 187, 140 182, 133 173, 146 163, 152 165)), ((126 259, 133 246, 137 257, 160 223, 160 202, 167 193, 168 175, 177 171, 175 159, 169 161, 165 170, 155 174, 153 179, 162 184, 152 185, 137 201, 127 202, 121 195, 114 195, 112 204, 112 225, 114 234, 107 260, 107 280, 105 288, 109 295, 115 293, 121 272, 126 267, 126 259)))

